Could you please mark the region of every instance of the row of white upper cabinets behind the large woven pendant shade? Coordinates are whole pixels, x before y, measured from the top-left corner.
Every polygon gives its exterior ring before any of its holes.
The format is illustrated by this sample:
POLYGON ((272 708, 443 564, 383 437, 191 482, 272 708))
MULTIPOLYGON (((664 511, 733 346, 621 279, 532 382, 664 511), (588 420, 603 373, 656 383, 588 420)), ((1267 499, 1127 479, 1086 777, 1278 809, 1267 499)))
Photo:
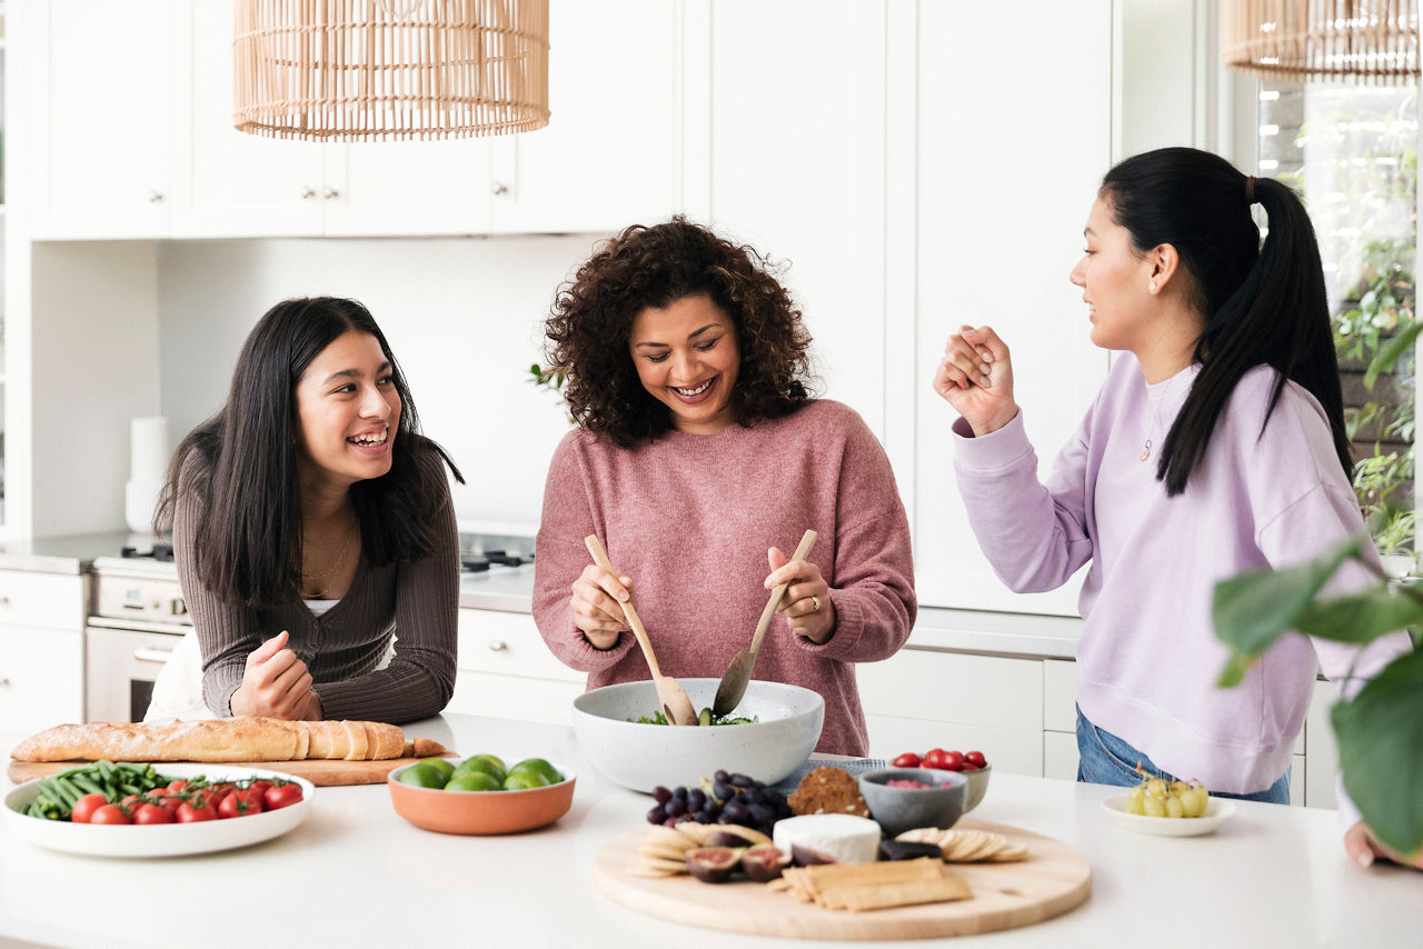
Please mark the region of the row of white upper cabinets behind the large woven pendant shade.
POLYGON ((38 4, 34 236, 596 232, 666 218, 682 4, 551 7, 548 128, 317 144, 232 128, 232 0, 38 4))

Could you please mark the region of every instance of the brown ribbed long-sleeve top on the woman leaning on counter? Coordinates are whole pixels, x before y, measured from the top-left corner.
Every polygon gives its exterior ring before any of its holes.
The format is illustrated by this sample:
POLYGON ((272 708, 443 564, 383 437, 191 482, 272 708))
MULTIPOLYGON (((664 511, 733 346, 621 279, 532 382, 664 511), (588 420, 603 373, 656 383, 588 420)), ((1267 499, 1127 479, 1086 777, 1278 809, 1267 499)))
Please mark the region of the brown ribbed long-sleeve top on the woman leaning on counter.
MULTIPOLYGON (((437 452, 420 464, 440 468, 437 452)), ((438 714, 454 693, 455 623, 460 606, 460 542, 448 485, 438 501, 434 552, 414 561, 373 566, 366 555, 350 589, 322 616, 300 599, 273 609, 223 603, 198 579, 192 532, 202 499, 192 484, 196 452, 179 479, 174 516, 174 559, 184 599, 202 646, 202 697, 215 713, 232 714, 248 654, 283 629, 306 663, 327 719, 400 724, 438 714), (377 669, 397 639, 396 654, 377 669)))

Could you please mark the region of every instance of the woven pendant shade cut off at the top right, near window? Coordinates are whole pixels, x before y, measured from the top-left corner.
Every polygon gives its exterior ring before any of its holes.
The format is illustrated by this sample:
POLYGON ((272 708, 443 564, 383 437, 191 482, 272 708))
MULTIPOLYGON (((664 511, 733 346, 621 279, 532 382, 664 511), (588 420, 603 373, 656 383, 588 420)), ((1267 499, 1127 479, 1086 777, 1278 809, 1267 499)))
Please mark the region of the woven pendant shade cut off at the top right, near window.
POLYGON ((1222 0, 1221 48, 1259 77, 1417 83, 1419 0, 1222 0))

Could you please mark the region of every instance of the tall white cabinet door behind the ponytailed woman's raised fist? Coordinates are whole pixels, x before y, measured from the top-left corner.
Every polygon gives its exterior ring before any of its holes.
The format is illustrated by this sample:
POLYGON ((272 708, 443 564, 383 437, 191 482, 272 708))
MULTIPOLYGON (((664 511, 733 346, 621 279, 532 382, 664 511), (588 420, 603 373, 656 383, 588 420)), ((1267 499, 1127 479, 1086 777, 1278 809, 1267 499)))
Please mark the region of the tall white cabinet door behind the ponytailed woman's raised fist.
POLYGON ((951 332, 996 329, 1046 477, 1106 377, 1067 273, 1111 159, 1111 6, 919 4, 915 576, 925 606, 1076 613, 1080 578, 1015 595, 993 576, 953 481, 958 415, 931 381, 951 332), (1013 37, 1013 63, 986 36, 1013 37))

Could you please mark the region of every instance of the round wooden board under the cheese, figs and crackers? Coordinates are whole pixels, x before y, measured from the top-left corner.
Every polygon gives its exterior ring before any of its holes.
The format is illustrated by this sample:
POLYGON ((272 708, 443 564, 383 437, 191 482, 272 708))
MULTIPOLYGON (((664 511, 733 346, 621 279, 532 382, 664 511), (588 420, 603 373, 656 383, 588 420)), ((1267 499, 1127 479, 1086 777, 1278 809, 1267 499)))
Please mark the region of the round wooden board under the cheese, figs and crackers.
POLYGON ((1091 892, 1091 868, 1076 849, 1050 837, 1002 824, 962 820, 955 828, 995 831, 1027 844, 1015 864, 945 864, 962 876, 972 899, 868 912, 821 909, 747 881, 703 884, 692 876, 635 876, 639 828, 606 842, 593 857, 593 882, 608 898, 638 912, 692 926, 798 939, 924 939, 1027 926, 1077 906, 1091 892))

